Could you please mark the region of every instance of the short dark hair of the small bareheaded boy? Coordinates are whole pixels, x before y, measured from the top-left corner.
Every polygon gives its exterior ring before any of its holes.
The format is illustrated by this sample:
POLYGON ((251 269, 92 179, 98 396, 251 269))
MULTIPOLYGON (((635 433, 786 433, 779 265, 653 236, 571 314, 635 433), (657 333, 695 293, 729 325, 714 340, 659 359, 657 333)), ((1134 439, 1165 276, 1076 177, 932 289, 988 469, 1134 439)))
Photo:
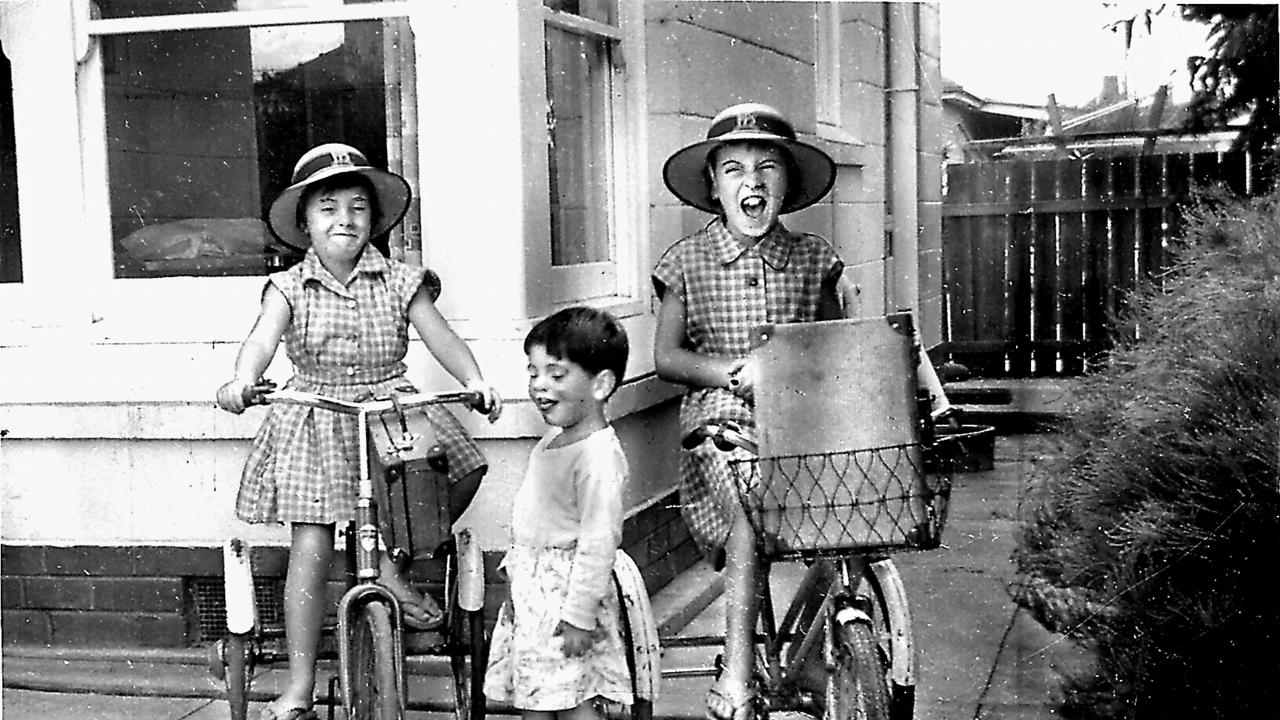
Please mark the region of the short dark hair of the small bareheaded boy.
POLYGON ((576 306, 543 318, 525 336, 525 354, 539 346, 548 355, 575 363, 593 375, 612 370, 613 389, 622 384, 630 351, 627 332, 604 310, 576 306))

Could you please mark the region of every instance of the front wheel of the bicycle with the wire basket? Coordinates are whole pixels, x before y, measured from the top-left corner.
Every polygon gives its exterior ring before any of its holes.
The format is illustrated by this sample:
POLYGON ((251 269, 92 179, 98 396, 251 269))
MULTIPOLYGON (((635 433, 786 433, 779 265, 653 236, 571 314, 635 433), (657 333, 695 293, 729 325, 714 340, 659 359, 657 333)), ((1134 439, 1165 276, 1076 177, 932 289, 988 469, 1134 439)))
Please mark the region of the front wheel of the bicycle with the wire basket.
POLYGON ((841 623, 835 633, 824 720, 890 720, 888 665, 870 625, 841 623))

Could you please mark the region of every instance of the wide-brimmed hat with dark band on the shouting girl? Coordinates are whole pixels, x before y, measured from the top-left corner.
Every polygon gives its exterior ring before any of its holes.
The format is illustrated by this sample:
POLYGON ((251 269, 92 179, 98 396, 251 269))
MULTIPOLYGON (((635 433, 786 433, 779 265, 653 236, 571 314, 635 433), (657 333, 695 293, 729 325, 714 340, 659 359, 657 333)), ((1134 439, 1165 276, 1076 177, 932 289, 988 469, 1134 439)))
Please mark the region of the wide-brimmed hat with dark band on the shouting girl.
POLYGON ((744 102, 721 110, 707 140, 677 150, 662 167, 662 179, 684 202, 719 213, 707 178, 707 158, 726 142, 771 142, 791 154, 792 167, 782 213, 803 210, 822 200, 836 182, 836 163, 817 147, 796 140, 796 131, 782 113, 769 105, 744 102))

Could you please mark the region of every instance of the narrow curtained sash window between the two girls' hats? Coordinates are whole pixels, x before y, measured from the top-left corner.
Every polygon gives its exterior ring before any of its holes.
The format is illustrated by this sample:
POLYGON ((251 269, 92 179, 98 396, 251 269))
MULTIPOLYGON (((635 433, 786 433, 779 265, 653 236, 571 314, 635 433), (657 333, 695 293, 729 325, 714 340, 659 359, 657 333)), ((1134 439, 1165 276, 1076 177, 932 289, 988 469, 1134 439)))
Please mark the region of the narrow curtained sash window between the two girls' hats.
POLYGON ((637 242, 623 20, 616 0, 544 0, 541 12, 548 300, 622 295, 620 263, 637 242))

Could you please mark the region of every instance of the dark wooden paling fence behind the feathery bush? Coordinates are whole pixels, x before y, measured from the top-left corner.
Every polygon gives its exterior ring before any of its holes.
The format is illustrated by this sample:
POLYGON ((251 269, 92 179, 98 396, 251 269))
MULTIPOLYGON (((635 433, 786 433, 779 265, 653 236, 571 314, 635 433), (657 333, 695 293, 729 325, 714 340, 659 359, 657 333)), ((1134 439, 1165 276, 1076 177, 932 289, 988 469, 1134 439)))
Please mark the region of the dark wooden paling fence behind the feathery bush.
POLYGON ((942 209, 945 355, 977 377, 1078 375, 1126 296, 1161 281, 1193 187, 1261 192, 1248 154, 951 165, 942 209))

